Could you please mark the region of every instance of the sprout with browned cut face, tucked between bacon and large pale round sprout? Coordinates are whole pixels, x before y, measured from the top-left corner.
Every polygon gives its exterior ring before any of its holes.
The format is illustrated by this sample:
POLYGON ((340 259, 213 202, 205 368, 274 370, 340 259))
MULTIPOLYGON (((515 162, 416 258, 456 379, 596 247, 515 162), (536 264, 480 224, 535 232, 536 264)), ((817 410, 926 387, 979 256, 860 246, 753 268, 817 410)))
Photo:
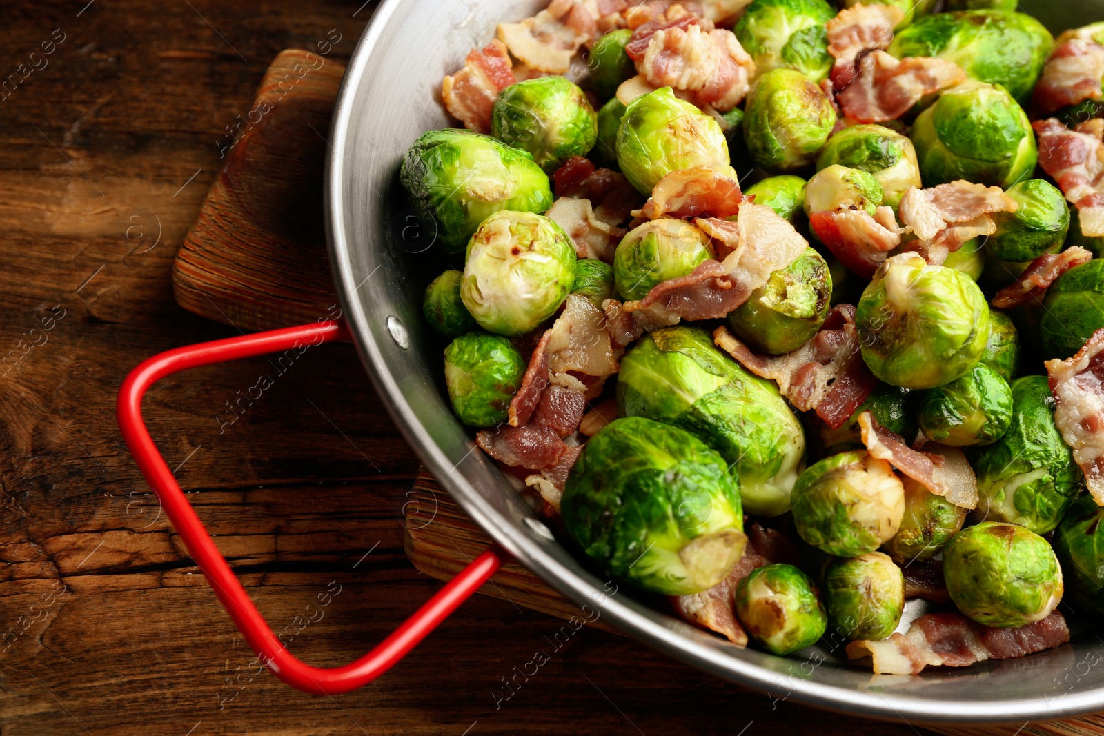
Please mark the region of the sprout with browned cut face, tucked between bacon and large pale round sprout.
POLYGON ((744 342, 775 355, 797 350, 828 317, 831 275, 824 256, 810 247, 771 274, 729 314, 729 327, 744 342))

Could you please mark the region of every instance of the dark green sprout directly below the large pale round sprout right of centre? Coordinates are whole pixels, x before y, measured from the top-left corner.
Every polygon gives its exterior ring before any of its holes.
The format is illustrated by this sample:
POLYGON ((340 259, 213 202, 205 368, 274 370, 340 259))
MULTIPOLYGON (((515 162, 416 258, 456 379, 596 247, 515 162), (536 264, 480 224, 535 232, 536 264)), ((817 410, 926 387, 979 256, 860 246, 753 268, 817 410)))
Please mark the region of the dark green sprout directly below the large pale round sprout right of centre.
POLYGON ((933 441, 952 447, 991 445, 1012 423, 1012 390, 979 362, 960 378, 924 391, 917 418, 921 431, 933 441))

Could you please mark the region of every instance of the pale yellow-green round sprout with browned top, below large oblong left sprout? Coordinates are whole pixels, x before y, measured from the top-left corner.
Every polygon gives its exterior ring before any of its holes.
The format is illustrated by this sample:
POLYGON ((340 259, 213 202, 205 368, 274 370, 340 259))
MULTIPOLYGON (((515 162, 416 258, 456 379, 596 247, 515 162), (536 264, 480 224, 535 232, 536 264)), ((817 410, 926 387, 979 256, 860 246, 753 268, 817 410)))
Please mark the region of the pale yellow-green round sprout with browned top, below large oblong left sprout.
POLYGON ((496 212, 468 243, 460 299, 488 332, 524 334, 567 298, 575 262, 574 244, 552 220, 496 212))

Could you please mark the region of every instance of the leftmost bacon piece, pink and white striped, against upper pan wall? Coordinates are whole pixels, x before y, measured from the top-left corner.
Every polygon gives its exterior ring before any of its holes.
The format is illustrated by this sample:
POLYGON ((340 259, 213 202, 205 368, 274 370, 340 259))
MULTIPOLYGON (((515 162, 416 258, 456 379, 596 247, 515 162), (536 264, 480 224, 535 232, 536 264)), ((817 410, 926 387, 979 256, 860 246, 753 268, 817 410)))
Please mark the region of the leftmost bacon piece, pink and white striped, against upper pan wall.
POLYGON ((464 68, 446 76, 440 85, 445 107, 465 128, 490 132, 490 108, 502 92, 516 82, 506 44, 498 39, 485 49, 473 50, 464 68))

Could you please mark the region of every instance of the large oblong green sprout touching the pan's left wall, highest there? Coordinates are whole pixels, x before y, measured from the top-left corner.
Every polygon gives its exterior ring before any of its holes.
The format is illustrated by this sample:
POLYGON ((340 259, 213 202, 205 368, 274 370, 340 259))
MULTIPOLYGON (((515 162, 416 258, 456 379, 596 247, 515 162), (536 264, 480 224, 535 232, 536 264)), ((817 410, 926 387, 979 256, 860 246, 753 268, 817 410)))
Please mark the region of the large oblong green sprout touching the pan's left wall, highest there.
POLYGON ((423 134, 406 151, 400 179, 448 253, 463 253, 493 212, 552 206, 549 178, 530 153, 470 130, 423 134))

